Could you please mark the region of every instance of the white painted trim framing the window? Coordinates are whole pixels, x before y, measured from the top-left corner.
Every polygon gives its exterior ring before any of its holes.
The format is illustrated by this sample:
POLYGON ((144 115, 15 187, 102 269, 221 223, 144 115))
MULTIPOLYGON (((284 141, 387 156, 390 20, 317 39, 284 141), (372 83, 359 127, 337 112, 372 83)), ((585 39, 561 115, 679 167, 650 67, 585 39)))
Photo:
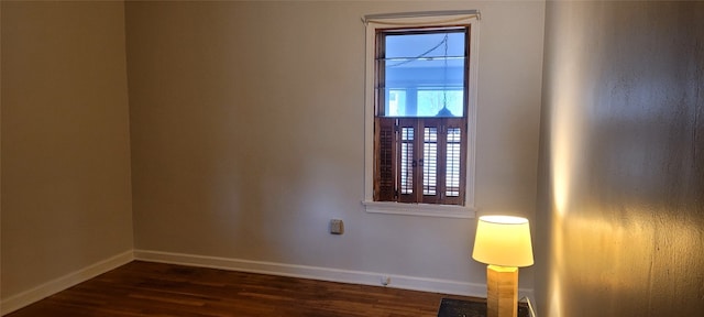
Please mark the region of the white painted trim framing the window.
POLYGON ((366 57, 365 57, 365 86, 364 86, 364 209, 372 214, 411 215, 446 218, 475 218, 474 208, 474 176, 475 174, 475 144, 476 144, 476 103, 477 103, 477 74, 479 74, 479 11, 468 14, 466 11, 419 12, 422 14, 375 14, 362 19, 366 24, 366 57), (373 19, 372 19, 373 17, 373 19), (374 201, 374 58, 376 30, 393 26, 446 26, 457 24, 470 24, 470 78, 469 78, 469 105, 468 105, 468 153, 466 153, 466 183, 464 206, 430 205, 430 204, 404 204, 394 201, 374 201))

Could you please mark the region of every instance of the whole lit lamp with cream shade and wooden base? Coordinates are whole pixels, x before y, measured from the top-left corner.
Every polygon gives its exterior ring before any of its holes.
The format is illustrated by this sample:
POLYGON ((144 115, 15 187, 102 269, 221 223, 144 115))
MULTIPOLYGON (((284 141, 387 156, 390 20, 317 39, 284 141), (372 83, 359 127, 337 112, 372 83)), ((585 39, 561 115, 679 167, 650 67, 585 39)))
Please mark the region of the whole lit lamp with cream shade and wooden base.
POLYGON ((472 259, 486 266, 486 316, 517 317, 518 267, 532 265, 528 219, 482 216, 472 259))

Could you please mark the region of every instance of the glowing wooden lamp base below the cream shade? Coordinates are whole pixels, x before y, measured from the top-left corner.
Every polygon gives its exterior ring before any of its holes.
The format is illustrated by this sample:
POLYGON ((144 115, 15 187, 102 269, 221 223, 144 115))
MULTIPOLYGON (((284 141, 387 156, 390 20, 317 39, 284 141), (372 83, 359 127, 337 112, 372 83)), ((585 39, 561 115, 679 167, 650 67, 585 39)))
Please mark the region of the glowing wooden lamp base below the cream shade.
POLYGON ((518 316, 518 267, 486 266, 486 316, 518 316))

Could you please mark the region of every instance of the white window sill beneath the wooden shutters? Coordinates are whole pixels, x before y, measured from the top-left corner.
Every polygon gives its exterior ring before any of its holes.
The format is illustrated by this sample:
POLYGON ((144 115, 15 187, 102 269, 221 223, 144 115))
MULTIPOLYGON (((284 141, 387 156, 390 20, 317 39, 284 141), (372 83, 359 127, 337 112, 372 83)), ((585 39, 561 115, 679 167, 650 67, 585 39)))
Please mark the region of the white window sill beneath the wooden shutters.
POLYGON ((370 214, 408 215, 440 218, 475 218, 474 208, 453 205, 402 204, 391 201, 362 201, 370 214))

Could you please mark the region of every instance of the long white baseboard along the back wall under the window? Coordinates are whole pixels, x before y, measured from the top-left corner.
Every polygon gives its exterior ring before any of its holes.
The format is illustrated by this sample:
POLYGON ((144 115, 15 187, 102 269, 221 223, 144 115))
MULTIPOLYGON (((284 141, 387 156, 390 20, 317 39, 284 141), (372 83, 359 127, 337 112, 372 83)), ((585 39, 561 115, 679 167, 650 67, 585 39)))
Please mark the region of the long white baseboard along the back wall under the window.
MULTIPOLYGON (((250 261, 240 259, 204 256, 194 254, 169 253, 161 251, 134 250, 135 260, 161 262, 190 266, 211 267, 249 273, 262 273, 321 281, 383 286, 382 278, 389 277, 386 287, 486 297, 486 285, 455 282, 450 280, 426 278, 405 275, 393 275, 376 272, 339 270, 319 266, 295 265, 285 263, 250 261)), ((522 289, 521 289, 522 291, 522 289)), ((529 291, 532 293, 532 289, 529 291)), ((520 292, 526 293, 526 292, 520 292)), ((532 295, 532 294, 530 294, 532 295)))

